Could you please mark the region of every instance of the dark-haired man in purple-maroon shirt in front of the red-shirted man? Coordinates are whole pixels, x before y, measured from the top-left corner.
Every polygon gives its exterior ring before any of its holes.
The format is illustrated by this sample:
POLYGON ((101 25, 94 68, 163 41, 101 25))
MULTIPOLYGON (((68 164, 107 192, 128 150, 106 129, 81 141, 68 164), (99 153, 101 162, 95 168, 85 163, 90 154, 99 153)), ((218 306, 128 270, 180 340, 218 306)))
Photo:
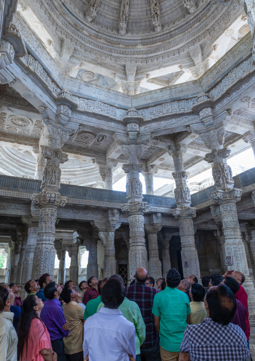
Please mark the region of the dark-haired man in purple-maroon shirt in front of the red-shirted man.
MULTIPOLYGON (((228 288, 230 288, 230 290, 233 292, 234 295, 239 290, 238 282, 235 279, 233 279, 232 277, 226 277, 224 280, 221 281, 221 283, 223 285, 227 286, 228 288)), ((243 330, 244 333, 245 333, 246 327, 247 327, 246 313, 247 313, 247 310, 243 306, 243 304, 240 301, 236 300, 236 311, 235 311, 234 317, 231 320, 231 323, 241 327, 241 329, 243 330)))

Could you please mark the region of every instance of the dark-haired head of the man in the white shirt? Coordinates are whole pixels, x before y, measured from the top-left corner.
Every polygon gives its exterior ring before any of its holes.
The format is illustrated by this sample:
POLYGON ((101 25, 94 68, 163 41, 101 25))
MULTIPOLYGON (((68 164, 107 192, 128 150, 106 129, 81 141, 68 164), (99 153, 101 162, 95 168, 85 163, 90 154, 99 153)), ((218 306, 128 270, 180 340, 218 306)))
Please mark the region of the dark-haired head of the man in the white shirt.
POLYGON ((124 283, 117 278, 109 279, 102 288, 101 299, 106 308, 118 308, 124 301, 124 297, 124 283))

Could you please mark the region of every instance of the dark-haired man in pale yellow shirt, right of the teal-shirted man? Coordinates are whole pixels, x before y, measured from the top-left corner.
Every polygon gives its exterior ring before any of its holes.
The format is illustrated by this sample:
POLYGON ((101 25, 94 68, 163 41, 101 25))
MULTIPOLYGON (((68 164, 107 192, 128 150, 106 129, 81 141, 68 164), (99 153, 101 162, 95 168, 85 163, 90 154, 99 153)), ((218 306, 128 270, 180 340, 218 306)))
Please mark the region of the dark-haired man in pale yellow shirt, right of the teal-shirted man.
POLYGON ((206 310, 202 300, 204 299, 205 290, 202 285, 199 283, 193 283, 189 290, 189 295, 191 298, 190 302, 190 324, 198 325, 206 317, 206 310))

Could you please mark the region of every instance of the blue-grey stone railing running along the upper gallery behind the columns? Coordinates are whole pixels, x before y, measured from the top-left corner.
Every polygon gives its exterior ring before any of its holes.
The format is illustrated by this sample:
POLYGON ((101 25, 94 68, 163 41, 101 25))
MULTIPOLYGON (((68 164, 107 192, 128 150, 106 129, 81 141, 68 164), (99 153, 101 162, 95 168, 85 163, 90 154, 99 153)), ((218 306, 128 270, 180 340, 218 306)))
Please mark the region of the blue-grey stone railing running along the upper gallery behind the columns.
MULTIPOLYGON (((255 190, 255 167, 233 177, 234 187, 243 193, 255 190)), ((41 180, 18 178, 0 175, 0 196, 31 198, 33 193, 40 193, 41 180)), ((191 206, 197 209, 206 208, 214 202, 211 193, 214 187, 208 187, 191 195, 191 206)), ((90 187, 61 184, 60 194, 67 197, 68 203, 120 208, 126 203, 126 193, 90 187)), ((175 199, 144 194, 143 202, 147 202, 151 212, 171 212, 176 208, 175 199), (161 209, 161 211, 160 211, 161 209)))

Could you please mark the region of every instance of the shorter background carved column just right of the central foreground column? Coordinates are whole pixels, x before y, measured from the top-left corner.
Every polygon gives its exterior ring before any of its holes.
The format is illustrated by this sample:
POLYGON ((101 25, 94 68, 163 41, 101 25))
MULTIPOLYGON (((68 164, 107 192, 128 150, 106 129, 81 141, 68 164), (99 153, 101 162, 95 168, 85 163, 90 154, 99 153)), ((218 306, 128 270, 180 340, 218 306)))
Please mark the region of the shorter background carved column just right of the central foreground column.
POLYGON ((153 223, 145 225, 149 242, 149 276, 152 276, 155 280, 158 280, 159 278, 162 278, 162 264, 159 259, 158 247, 158 232, 162 228, 161 213, 153 213, 150 219, 153 223))

